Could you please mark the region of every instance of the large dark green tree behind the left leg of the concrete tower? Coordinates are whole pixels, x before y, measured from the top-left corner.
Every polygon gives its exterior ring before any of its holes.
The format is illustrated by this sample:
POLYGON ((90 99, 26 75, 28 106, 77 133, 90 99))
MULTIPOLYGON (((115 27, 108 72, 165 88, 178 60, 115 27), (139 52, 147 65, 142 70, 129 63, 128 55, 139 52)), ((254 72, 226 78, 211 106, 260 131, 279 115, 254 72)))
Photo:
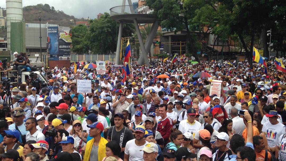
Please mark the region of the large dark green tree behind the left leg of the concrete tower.
MULTIPOLYGON (((116 51, 119 23, 110 19, 109 13, 104 13, 99 19, 90 21, 90 46, 93 53, 110 53, 116 51)), ((123 25, 122 37, 129 37, 134 33, 133 24, 123 25)))

